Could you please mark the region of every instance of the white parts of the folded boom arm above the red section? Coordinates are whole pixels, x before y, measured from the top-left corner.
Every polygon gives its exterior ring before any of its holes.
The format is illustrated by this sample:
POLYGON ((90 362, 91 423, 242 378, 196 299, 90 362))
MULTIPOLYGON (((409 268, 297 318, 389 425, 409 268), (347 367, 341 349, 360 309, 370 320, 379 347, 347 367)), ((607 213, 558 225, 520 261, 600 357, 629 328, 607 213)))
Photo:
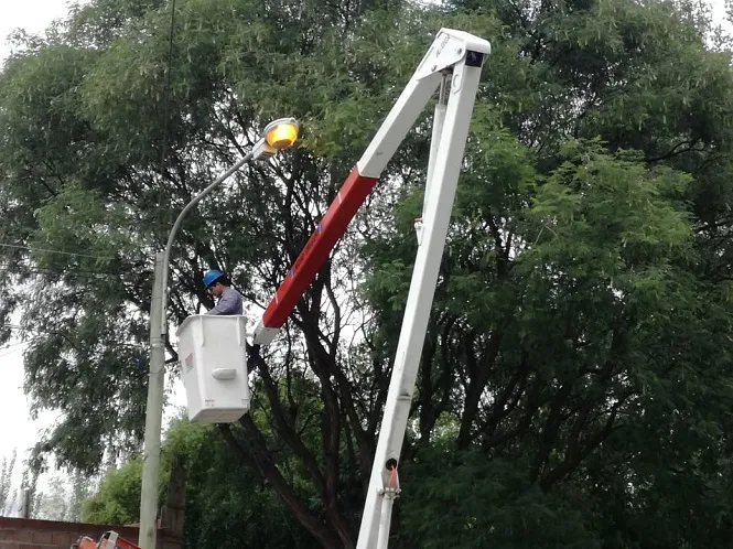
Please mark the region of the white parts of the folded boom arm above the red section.
POLYGON ((489 53, 491 45, 485 40, 461 31, 441 30, 357 164, 362 173, 378 176, 430 97, 440 88, 440 100, 433 119, 422 219, 416 224, 418 255, 357 549, 385 549, 388 546, 392 503, 399 495, 397 466, 468 138, 481 68, 489 53))

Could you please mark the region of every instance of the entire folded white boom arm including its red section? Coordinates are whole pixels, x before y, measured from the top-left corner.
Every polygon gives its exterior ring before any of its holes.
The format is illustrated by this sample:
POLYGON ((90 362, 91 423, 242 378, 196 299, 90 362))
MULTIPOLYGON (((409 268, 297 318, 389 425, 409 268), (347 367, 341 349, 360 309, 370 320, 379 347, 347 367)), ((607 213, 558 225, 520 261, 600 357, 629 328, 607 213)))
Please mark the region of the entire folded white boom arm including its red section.
POLYGON ((412 390, 428 330, 468 125, 487 41, 442 29, 364 155, 352 170, 313 235, 293 262, 255 330, 254 343, 277 336, 348 223, 377 183, 407 132, 440 89, 433 120, 422 218, 416 223, 418 255, 412 271, 395 367, 377 442, 357 549, 385 549, 399 494, 397 466, 412 390))

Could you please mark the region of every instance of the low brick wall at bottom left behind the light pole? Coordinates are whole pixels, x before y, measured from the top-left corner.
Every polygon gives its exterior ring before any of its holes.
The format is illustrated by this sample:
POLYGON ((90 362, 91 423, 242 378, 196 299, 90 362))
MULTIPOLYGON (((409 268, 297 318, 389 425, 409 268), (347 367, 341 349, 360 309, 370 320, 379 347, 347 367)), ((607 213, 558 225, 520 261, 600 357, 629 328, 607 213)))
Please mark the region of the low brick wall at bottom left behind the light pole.
MULTIPOLYGON (((97 541, 109 530, 115 530, 133 543, 138 541, 136 527, 0 517, 0 549, 69 549, 80 536, 88 536, 97 541)), ((159 532, 158 538, 159 549, 182 547, 180 542, 169 539, 163 531, 159 532)))

